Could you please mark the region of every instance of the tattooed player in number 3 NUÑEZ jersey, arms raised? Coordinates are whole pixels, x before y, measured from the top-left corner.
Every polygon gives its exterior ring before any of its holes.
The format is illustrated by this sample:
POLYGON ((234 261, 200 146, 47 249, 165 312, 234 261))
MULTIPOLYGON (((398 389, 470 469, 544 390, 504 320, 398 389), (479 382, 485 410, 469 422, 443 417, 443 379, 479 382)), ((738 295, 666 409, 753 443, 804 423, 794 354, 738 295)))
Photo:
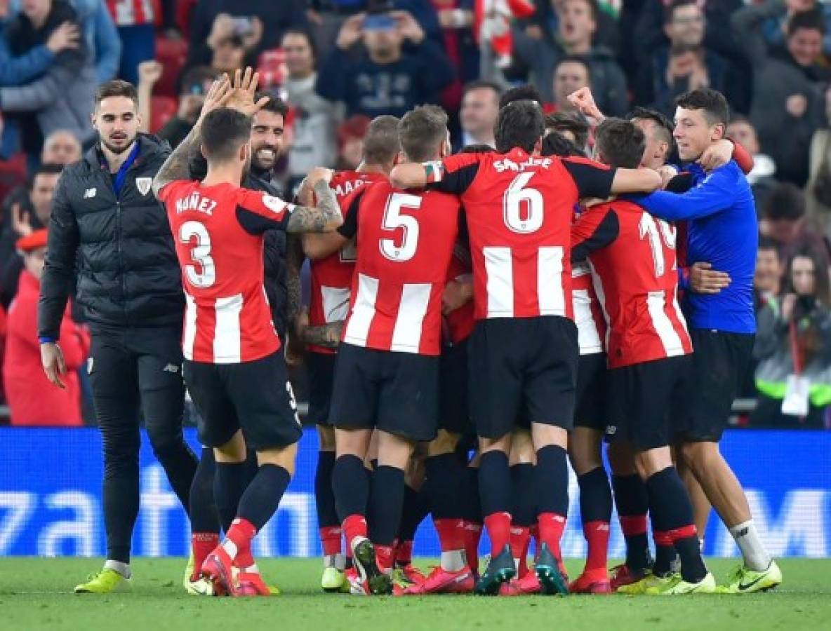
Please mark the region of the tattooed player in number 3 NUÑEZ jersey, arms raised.
POLYGON ((251 160, 251 115, 267 102, 253 100, 257 81, 248 68, 244 76, 237 72, 233 89, 227 77, 214 82, 194 130, 153 182, 182 269, 184 379, 201 416, 199 439, 214 448, 217 462, 225 540, 202 566, 217 595, 270 593, 251 541, 277 510, 302 435, 263 289, 263 233, 326 231, 342 223, 325 177, 315 185, 318 208, 239 188, 251 160), (197 147, 208 160, 201 182, 183 179, 197 147), (250 482, 246 446, 257 452, 250 482))

